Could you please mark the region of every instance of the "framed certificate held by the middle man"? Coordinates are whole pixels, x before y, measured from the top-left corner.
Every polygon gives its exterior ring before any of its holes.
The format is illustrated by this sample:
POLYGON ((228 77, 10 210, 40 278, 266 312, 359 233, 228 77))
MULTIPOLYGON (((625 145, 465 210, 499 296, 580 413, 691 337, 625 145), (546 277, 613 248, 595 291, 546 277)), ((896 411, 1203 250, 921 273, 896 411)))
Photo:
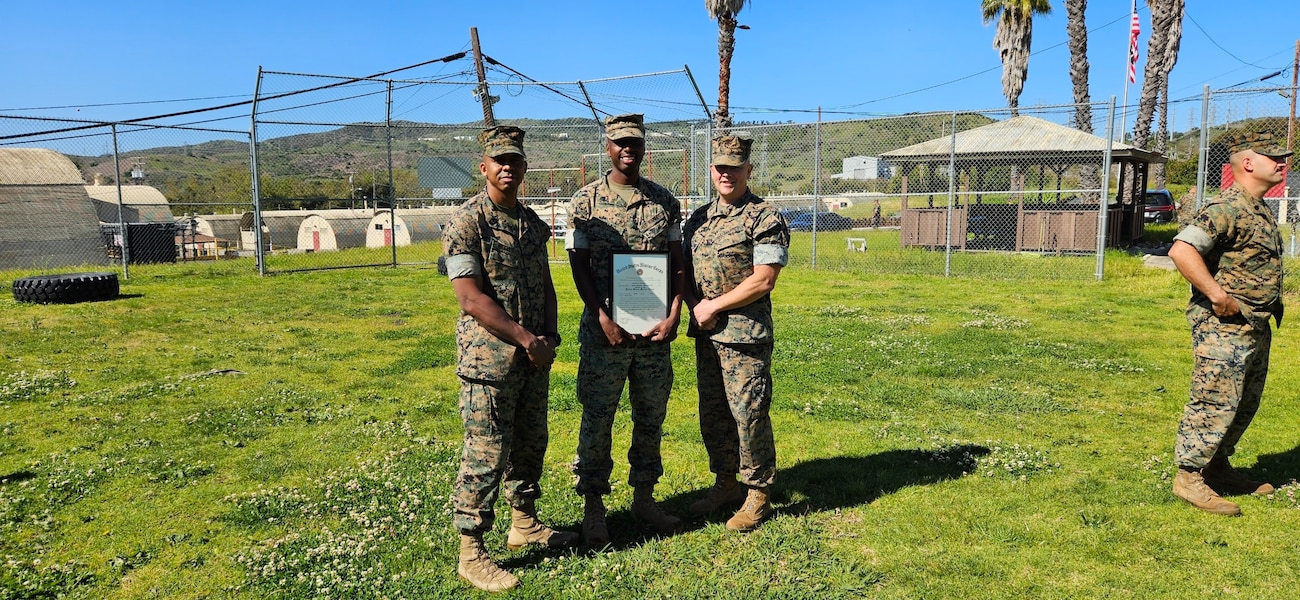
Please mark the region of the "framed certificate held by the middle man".
POLYGON ((629 334, 644 334, 668 317, 671 264, 666 252, 615 252, 610 314, 629 334))

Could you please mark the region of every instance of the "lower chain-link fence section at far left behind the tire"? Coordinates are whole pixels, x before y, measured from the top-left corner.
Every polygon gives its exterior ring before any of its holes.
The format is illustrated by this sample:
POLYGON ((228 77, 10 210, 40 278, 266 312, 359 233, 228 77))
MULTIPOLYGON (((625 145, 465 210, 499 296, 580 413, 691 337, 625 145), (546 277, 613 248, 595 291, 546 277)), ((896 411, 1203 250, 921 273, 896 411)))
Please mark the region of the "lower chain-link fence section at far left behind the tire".
POLYGON ((248 132, 186 117, 0 116, 0 269, 238 257, 205 217, 251 206, 248 132))

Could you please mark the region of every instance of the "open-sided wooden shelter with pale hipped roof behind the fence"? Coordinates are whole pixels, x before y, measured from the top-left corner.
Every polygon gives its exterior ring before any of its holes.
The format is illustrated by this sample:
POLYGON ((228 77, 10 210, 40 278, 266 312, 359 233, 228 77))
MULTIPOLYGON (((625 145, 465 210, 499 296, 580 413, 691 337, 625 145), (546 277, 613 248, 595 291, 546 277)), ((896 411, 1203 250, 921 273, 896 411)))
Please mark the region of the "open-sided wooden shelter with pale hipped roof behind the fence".
MULTIPOLYGON (((902 179, 901 244, 1028 252, 1096 252, 1101 203, 1101 173, 1108 140, 1037 117, 1013 117, 980 127, 881 153, 902 179), (953 206, 935 205, 937 187, 926 188, 918 174, 954 173, 958 196, 953 206), (1050 171, 1050 175, 1049 175, 1050 171), (1098 182, 1095 187, 1062 190, 1070 177, 1098 182), (1032 175, 1037 190, 1026 190, 1032 175), (1001 183, 1001 186, 996 186, 1001 183), (1005 182, 1005 183, 1004 183, 1005 182), (1054 190, 1043 184, 1054 182, 1054 190), (909 186, 911 184, 911 186, 909 186), (911 192, 909 191, 911 187, 911 192), (926 206, 913 206, 920 187, 926 206), (989 187, 1002 187, 991 190, 989 187), (1006 200, 984 203, 984 196, 1006 200), (948 222, 949 212, 952 223, 948 222), (950 225, 950 227, 949 227, 950 225), (945 239, 945 232, 948 238, 945 239)), ((1110 161, 1119 184, 1106 203, 1106 245, 1124 247, 1143 236, 1143 197, 1147 169, 1165 158, 1132 145, 1110 142, 1110 161)))

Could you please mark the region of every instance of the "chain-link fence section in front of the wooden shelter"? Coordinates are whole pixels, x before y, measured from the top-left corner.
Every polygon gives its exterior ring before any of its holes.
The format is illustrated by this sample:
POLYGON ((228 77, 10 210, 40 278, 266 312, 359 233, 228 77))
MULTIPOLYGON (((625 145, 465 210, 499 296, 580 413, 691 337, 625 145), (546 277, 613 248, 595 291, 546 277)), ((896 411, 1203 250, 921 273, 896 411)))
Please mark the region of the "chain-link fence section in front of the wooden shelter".
POLYGON ((1100 201, 1108 165, 1154 158, 1106 144, 1113 108, 1089 108, 1100 135, 1074 105, 732 131, 754 139, 750 188, 785 214, 794 268, 1079 279, 1141 238, 1140 208, 1100 201))

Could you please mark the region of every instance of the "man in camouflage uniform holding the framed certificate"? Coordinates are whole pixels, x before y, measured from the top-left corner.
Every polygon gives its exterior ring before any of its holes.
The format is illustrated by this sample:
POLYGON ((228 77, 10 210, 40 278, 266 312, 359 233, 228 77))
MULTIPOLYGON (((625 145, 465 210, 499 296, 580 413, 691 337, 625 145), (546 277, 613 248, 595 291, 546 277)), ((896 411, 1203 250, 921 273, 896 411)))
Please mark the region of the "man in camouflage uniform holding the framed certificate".
POLYGON ((628 483, 634 490, 633 513, 662 532, 681 525, 664 514, 653 496, 663 475, 659 445, 672 392, 671 343, 681 318, 681 204, 663 186, 640 174, 645 157, 641 114, 606 119, 606 151, 614 169, 573 195, 564 244, 573 283, 585 304, 577 366, 582 423, 573 473, 576 491, 585 501, 584 534, 592 545, 608 542, 602 496, 611 491, 612 429, 624 382, 632 405, 628 483), (627 331, 612 321, 615 252, 668 255, 672 290, 667 316, 649 331, 627 331))

